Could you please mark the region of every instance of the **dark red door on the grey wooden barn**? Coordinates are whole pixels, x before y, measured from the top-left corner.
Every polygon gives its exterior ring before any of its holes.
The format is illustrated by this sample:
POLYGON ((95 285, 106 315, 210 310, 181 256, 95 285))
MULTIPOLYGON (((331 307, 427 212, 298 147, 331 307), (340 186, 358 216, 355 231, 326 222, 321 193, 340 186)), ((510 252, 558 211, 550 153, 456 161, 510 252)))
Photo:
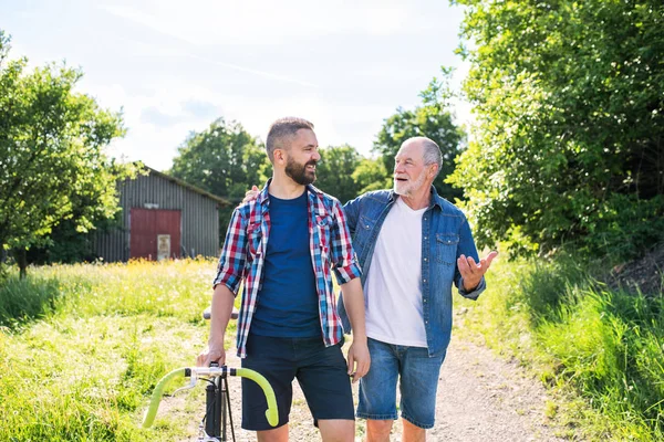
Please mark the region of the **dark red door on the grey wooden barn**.
POLYGON ((132 208, 129 257, 180 257, 180 211, 132 208))

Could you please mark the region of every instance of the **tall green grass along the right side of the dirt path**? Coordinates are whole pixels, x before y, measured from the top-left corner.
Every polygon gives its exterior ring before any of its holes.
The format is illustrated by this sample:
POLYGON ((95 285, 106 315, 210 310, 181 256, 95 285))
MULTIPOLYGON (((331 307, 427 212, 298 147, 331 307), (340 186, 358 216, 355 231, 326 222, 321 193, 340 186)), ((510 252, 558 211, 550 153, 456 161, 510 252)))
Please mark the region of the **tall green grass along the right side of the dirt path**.
POLYGON ((664 298, 610 290, 585 269, 496 262, 487 293, 460 302, 461 333, 480 333, 567 396, 560 418, 587 438, 662 441, 664 298))

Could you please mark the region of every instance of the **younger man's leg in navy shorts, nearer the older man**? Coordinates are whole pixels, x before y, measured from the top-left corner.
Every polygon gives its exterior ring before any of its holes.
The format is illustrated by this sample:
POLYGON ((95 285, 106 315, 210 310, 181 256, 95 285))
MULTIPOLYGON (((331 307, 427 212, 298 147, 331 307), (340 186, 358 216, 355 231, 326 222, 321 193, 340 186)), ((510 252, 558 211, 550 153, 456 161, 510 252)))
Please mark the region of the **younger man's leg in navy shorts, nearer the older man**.
POLYGON ((325 347, 321 338, 298 346, 298 381, 323 442, 355 439, 353 391, 341 344, 325 347))

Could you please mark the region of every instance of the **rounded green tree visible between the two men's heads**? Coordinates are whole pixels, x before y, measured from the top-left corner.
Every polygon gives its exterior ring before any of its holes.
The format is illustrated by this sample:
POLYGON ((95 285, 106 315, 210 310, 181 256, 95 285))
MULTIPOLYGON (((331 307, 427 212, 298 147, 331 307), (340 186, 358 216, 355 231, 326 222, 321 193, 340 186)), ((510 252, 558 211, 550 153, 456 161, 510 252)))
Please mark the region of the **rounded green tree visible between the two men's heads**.
POLYGON ((361 156, 349 145, 320 149, 321 161, 317 166, 315 187, 336 197, 342 203, 352 200, 360 190, 353 172, 361 156))

